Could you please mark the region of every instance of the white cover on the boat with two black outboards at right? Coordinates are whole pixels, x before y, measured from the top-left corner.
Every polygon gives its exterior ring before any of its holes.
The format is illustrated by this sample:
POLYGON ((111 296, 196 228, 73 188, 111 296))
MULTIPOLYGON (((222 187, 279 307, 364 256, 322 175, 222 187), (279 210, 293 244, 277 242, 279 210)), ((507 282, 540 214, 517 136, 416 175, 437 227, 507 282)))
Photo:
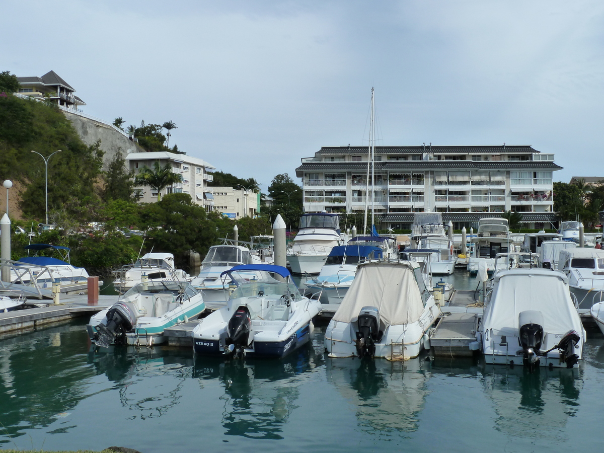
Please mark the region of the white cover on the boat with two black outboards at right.
POLYGON ((582 332, 577 309, 568 290, 568 278, 550 269, 510 269, 496 275, 490 304, 485 310, 483 332, 518 335, 518 315, 535 310, 543 315, 547 333, 582 332))

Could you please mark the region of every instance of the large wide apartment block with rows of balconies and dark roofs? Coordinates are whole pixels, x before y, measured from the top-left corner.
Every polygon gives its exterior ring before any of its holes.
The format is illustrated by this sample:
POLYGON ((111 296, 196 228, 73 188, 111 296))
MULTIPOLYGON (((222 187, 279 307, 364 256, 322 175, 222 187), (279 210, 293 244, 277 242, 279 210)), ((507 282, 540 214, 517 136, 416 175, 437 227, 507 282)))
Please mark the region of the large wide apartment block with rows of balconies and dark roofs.
POLYGON ((304 211, 362 211, 368 193, 384 229, 407 230, 413 213, 425 211, 456 229, 504 211, 521 212, 527 227, 556 220, 551 178, 562 167, 531 146, 377 146, 374 155, 373 194, 366 146, 322 147, 303 158, 296 175, 304 211))

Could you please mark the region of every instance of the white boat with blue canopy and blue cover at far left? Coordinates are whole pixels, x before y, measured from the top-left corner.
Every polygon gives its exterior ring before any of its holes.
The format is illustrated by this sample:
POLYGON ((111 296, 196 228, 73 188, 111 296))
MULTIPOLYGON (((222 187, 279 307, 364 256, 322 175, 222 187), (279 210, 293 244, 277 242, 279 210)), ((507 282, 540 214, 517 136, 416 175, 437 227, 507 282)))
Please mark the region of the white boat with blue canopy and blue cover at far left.
POLYGON ((22 263, 11 271, 11 281, 21 281, 28 284, 34 277, 39 285, 51 286, 53 281, 60 281, 61 286, 86 283, 88 272, 84 268, 76 268, 69 262, 69 247, 49 244, 26 245, 25 249, 36 252, 31 257, 19 259, 22 263), (40 256, 43 250, 52 249, 59 258, 40 256))

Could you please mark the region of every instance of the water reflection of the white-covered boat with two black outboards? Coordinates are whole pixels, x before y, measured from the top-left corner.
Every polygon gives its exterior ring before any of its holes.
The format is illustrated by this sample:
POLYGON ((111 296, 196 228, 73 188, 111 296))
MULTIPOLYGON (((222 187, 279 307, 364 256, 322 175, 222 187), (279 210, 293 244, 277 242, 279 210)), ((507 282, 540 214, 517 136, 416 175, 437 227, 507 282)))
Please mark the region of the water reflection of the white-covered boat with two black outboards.
POLYGON ((497 414, 495 429, 518 437, 564 439, 568 417, 579 412, 582 370, 484 365, 484 391, 497 414))

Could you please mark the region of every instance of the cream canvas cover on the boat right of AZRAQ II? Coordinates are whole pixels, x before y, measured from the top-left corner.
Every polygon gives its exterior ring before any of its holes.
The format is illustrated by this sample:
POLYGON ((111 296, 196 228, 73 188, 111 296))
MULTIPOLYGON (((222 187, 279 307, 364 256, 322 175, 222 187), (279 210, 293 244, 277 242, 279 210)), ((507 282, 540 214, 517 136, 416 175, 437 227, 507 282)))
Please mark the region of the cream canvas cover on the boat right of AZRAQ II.
POLYGON ((362 307, 377 307, 381 320, 389 325, 411 324, 423 312, 422 295, 408 262, 361 264, 355 280, 333 316, 334 321, 356 321, 362 307))

